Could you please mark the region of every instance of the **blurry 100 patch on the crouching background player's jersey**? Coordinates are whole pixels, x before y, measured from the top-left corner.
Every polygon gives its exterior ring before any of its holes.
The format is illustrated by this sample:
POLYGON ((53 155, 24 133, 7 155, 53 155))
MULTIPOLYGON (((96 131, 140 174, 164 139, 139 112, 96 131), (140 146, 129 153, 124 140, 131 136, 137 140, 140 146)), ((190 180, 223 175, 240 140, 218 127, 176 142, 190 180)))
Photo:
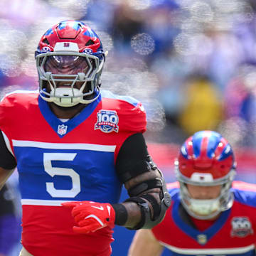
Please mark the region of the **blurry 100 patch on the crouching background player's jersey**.
POLYGON ((245 238, 247 235, 253 234, 252 224, 247 217, 235 217, 231 220, 231 225, 232 237, 245 238))

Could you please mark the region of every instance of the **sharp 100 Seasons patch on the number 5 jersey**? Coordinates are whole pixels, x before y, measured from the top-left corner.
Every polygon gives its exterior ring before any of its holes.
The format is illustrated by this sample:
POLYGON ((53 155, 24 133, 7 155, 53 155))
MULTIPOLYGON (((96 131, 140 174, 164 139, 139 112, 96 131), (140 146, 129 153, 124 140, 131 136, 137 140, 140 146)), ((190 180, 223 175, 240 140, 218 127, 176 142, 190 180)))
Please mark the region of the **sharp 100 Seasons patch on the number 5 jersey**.
POLYGON ((95 129, 100 129, 102 132, 118 132, 118 116, 114 110, 100 110, 97 112, 97 122, 95 129))

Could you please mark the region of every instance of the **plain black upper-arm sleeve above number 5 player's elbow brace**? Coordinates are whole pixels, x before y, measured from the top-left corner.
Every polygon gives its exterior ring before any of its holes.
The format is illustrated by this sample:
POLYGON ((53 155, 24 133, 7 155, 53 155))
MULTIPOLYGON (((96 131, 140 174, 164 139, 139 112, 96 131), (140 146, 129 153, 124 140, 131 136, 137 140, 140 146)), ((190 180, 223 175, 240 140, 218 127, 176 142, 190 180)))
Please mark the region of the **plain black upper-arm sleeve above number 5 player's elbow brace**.
POLYGON ((122 144, 117 156, 116 170, 120 181, 138 176, 144 172, 144 163, 149 153, 142 133, 133 134, 122 144))

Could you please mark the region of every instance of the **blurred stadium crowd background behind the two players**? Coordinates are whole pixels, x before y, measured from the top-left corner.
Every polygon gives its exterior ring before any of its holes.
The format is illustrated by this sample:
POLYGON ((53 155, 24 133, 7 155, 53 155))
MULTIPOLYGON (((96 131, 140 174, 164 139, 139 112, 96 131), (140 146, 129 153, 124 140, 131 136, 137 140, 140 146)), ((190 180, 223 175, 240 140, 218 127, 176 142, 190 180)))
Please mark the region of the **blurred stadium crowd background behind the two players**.
MULTIPOLYGON (((255 0, 1 0, 0 97, 37 90, 39 39, 82 20, 109 51, 102 89, 144 104, 149 152, 167 181, 186 137, 213 129, 235 149, 237 179, 256 183, 255 14, 255 0)), ((115 228, 113 255, 127 254, 133 234, 115 228)))

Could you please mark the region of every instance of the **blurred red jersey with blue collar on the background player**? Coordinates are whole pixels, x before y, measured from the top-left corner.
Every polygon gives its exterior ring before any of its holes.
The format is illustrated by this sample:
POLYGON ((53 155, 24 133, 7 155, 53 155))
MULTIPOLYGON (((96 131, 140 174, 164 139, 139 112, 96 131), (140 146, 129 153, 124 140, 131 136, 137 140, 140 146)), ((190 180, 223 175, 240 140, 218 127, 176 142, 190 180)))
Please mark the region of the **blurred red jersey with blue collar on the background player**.
POLYGON ((171 255, 255 255, 256 185, 234 181, 233 206, 213 223, 193 223, 181 206, 178 183, 169 183, 168 188, 171 207, 152 231, 171 255), (208 228, 202 230, 204 226, 208 228))

